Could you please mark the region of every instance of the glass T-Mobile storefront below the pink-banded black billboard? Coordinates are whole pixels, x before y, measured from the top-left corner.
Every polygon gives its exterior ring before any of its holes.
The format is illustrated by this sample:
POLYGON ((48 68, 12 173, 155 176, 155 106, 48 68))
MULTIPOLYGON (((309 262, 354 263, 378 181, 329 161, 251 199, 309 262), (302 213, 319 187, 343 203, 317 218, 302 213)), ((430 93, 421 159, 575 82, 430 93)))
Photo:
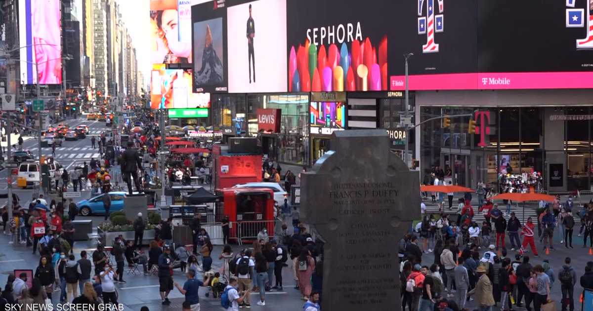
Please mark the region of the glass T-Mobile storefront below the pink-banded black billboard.
POLYGON ((422 180, 429 175, 476 187, 484 181, 497 191, 590 190, 593 185, 592 107, 420 107, 422 180), (476 115, 477 111, 477 115, 476 115), (487 127, 483 127, 487 124, 487 127))

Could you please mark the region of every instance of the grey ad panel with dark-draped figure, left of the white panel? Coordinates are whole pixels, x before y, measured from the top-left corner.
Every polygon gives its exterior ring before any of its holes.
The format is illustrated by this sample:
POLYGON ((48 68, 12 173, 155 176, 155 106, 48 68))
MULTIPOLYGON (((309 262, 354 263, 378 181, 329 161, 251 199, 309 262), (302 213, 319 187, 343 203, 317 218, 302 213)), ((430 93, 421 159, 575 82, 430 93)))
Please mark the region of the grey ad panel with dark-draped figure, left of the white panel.
MULTIPOLYGON (((193 90, 226 92, 227 11, 213 7, 216 2, 192 7, 193 90)), ((246 39, 247 40, 247 39, 246 39)))

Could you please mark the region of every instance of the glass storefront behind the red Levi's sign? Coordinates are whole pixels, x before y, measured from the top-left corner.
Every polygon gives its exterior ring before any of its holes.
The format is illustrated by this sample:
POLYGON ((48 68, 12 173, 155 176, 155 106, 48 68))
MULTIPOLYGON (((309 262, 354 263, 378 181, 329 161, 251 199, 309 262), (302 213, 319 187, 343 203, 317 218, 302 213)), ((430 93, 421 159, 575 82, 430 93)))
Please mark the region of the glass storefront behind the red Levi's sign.
POLYGON ((307 94, 247 95, 247 134, 252 137, 259 135, 263 153, 275 161, 298 165, 310 163, 308 117, 307 94), (256 112, 258 108, 282 111, 279 133, 260 133, 256 112))

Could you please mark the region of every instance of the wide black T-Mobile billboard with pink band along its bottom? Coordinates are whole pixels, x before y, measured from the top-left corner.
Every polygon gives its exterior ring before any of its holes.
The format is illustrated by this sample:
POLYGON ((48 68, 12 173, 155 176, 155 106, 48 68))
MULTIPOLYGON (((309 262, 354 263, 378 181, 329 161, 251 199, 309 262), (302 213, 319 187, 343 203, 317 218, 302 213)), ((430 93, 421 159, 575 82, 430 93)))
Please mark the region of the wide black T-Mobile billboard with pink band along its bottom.
MULTIPOLYGON (((398 1, 390 89, 593 88, 593 1, 398 1)), ((391 53, 393 52, 393 53, 391 53)))

